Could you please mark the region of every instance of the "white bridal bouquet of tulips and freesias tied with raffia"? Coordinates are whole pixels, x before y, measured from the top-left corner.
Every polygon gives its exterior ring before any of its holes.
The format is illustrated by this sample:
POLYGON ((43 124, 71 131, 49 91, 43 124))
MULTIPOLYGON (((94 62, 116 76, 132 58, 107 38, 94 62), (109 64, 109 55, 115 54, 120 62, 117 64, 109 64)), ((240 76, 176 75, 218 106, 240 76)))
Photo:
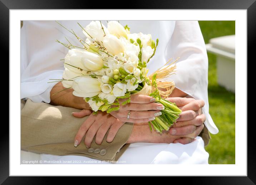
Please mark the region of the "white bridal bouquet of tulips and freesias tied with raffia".
MULTIPOLYGON (((58 23, 58 22, 57 22, 58 23)), ((60 24, 60 23, 59 23, 60 24)), ((61 25, 61 24, 60 24, 61 25)), ((150 34, 130 33, 130 28, 118 21, 107 21, 107 28, 101 21, 92 21, 81 26, 86 39, 80 38, 73 30, 68 30, 82 44, 74 46, 67 39, 69 48, 65 56, 62 79, 67 89, 73 88, 73 95, 83 97, 92 110, 119 110, 119 99, 125 99, 123 105, 130 102, 131 94, 143 94, 156 98, 165 109, 162 115, 149 121, 149 127, 162 132, 168 130, 181 114, 181 110, 172 102, 164 99, 174 89, 174 82, 165 79, 173 74, 175 65, 168 64, 154 74, 147 75, 147 64, 154 56, 158 45, 150 34)))

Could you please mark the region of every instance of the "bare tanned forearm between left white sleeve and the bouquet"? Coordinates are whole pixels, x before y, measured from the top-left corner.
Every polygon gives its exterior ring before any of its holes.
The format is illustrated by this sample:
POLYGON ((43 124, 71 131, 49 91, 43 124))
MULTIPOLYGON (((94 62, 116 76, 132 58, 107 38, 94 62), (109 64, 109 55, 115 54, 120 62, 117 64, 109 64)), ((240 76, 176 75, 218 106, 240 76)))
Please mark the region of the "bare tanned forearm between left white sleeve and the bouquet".
POLYGON ((76 109, 89 109, 91 107, 87 102, 84 101, 83 97, 77 97, 73 95, 73 89, 64 90, 61 82, 58 82, 53 86, 50 92, 51 105, 61 105, 65 107, 73 107, 76 109), (61 91, 64 90, 64 91, 61 91), (61 91, 61 92, 59 92, 61 91), (56 92, 59 92, 55 94, 56 92))

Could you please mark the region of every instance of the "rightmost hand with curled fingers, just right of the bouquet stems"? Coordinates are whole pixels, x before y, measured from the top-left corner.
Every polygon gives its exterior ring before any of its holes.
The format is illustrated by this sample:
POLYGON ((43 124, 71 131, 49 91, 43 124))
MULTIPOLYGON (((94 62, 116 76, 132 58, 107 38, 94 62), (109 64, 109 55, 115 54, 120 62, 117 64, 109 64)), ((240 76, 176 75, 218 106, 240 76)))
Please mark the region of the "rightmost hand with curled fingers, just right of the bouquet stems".
POLYGON ((174 140, 173 143, 188 144, 194 141, 203 130, 203 123, 206 120, 201 109, 205 102, 192 97, 169 97, 168 100, 174 102, 182 110, 177 122, 169 129, 171 135, 182 137, 174 140))

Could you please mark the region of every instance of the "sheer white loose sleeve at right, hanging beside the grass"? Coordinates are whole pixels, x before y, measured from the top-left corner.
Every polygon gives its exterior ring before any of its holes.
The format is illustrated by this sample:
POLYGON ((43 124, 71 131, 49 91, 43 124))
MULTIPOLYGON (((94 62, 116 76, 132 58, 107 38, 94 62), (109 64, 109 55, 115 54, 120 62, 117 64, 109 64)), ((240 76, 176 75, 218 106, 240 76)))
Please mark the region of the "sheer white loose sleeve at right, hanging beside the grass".
POLYGON ((208 57, 198 21, 176 21, 165 54, 166 61, 180 57, 176 75, 172 75, 171 80, 178 89, 205 101, 202 109, 206 115, 205 126, 212 134, 217 134, 218 128, 209 114, 208 57))

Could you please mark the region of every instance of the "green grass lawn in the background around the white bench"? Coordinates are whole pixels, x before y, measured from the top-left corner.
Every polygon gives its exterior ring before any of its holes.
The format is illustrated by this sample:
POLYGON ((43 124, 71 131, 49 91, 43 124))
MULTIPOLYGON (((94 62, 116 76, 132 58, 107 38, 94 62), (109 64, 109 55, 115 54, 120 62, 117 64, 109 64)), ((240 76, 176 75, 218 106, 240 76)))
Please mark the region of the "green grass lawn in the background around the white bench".
MULTIPOLYGON (((205 43, 211 38, 235 34, 235 21, 199 21, 205 43)), ((210 114, 219 129, 206 146, 209 164, 235 164, 235 94, 217 83, 216 55, 208 54, 210 114)))

